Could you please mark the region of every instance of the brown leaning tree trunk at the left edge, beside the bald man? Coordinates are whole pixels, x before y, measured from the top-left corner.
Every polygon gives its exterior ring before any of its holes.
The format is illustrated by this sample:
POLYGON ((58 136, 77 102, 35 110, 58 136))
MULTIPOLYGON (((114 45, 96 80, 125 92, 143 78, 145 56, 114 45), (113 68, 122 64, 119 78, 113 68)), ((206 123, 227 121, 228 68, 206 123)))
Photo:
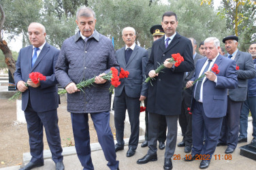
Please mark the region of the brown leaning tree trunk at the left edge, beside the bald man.
POLYGON ((8 67, 8 69, 12 73, 12 78, 14 77, 14 72, 16 70, 16 61, 14 61, 14 58, 12 58, 12 51, 7 46, 7 43, 5 40, 2 40, 0 37, 0 49, 2 50, 3 54, 5 55, 5 63, 8 67))

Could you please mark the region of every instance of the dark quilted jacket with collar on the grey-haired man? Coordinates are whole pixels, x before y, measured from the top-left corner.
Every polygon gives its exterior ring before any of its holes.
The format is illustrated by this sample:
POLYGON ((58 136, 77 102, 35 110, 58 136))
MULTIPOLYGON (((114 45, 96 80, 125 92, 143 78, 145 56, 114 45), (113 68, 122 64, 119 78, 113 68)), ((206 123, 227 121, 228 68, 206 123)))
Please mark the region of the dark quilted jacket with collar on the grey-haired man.
MULTIPOLYGON (((111 40, 96 30, 86 42, 80 33, 63 42, 55 67, 59 84, 78 84, 101 73, 109 73, 110 67, 119 69, 111 40)), ((97 113, 110 110, 110 82, 95 84, 80 92, 67 94, 67 111, 71 113, 97 113)))

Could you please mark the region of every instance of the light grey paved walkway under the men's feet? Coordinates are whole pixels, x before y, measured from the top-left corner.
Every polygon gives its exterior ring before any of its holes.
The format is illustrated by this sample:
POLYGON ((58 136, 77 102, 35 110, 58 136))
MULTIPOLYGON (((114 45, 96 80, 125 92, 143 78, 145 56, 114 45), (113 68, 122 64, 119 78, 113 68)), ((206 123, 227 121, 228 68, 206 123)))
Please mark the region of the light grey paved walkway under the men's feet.
MULTIPOLYGON (((5 86, 6 88, 6 86, 5 86)), ((0 86, 0 91, 5 91, 4 87, 0 86)), ((110 121, 114 121, 113 118, 110 119, 110 121)), ((129 129, 129 120, 128 120, 128 116, 126 119, 126 124, 125 126, 128 126, 127 129, 129 129)), ((111 123, 110 123, 111 124, 111 123)), ((143 131, 145 129, 145 123, 144 123, 144 113, 142 113, 140 115, 140 143, 142 141, 144 141, 144 136, 143 136, 143 131)), ((249 134, 249 142, 251 142, 251 139, 253 138, 251 136, 253 131, 253 126, 252 126, 252 121, 249 121, 249 127, 248 127, 248 134, 249 134)), ((178 126, 178 137, 177 137, 177 143, 180 142, 182 140, 182 136, 181 136, 181 131, 180 131, 180 126, 178 126)), ((150 162, 147 163, 145 165, 138 165, 136 163, 136 160, 138 160, 139 158, 142 158, 148 148, 141 148, 140 147, 140 143, 139 146, 136 150, 136 153, 134 156, 132 156, 131 158, 127 158, 126 152, 128 150, 128 143, 129 139, 125 139, 125 150, 116 152, 116 156, 117 156, 117 160, 120 161, 120 165, 119 168, 121 170, 133 170, 133 169, 146 169, 146 170, 150 170, 150 169, 163 169, 163 161, 164 161, 164 150, 158 150, 157 154, 158 154, 158 160, 155 162, 150 162)), ((208 169, 256 169, 256 161, 252 160, 250 158, 246 158, 244 156, 240 156, 240 146, 244 146, 246 143, 239 143, 238 147, 236 148, 235 152, 233 154, 231 154, 231 158, 230 160, 225 160, 225 146, 219 146, 217 147, 217 150, 215 151, 214 154, 216 155, 220 155, 221 156, 221 160, 219 160, 219 156, 212 156, 212 160, 210 163, 210 167, 208 167, 208 169)), ((248 143, 247 143, 248 144, 248 143)), ((92 143, 91 144, 91 157, 93 160, 93 165, 95 167, 95 170, 104 170, 104 169, 108 169, 107 167, 107 161, 104 158, 103 152, 101 150, 101 147, 99 146, 99 143, 92 143)), ((176 151, 173 159, 176 158, 176 160, 172 160, 173 169, 199 169, 199 163, 200 160, 194 160, 193 162, 185 162, 184 160, 182 160, 184 158, 184 156, 186 155, 184 152, 184 148, 179 148, 176 147, 176 151)), ((63 148, 63 156, 64 156, 64 160, 63 163, 65 165, 65 170, 80 170, 82 169, 82 166, 80 164, 80 161, 78 160, 78 157, 76 155, 76 150, 74 147, 68 147, 68 148, 63 148)), ((23 156, 23 161, 25 164, 27 164, 30 160, 30 154, 29 153, 24 153, 23 156)), ((54 162, 51 160, 51 155, 50 155, 50 151, 49 150, 45 150, 44 151, 44 167, 39 167, 36 168, 35 170, 54 170, 55 169, 55 165, 54 162)), ((227 158, 227 156, 226 156, 227 158)), ((18 170, 20 169, 20 166, 14 166, 14 167, 5 167, 5 168, 1 168, 0 170, 18 170)))

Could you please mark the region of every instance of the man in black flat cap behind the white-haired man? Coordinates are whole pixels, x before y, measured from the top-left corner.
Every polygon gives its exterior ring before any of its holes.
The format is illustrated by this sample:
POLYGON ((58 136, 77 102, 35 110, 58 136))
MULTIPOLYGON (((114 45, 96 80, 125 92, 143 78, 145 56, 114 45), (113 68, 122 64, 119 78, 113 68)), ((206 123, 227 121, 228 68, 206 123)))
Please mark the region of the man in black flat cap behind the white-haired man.
POLYGON ((251 54, 238 50, 238 37, 230 35, 223 40, 227 50, 228 58, 236 61, 238 69, 238 87, 228 90, 227 94, 227 115, 223 118, 221 135, 217 146, 226 146, 225 154, 231 154, 236 149, 238 142, 240 113, 242 103, 246 101, 248 79, 256 75, 253 58, 251 54))

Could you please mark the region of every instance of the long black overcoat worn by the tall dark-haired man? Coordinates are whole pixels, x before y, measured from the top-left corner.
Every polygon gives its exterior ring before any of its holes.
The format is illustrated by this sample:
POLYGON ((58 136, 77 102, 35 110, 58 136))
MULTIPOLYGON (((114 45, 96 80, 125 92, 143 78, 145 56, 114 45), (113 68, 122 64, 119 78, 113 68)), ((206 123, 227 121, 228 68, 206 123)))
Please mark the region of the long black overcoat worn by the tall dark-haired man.
POLYGON ((193 71, 193 48, 191 41, 176 33, 165 49, 165 37, 153 42, 152 52, 147 65, 147 75, 157 69, 172 54, 180 53, 184 61, 174 69, 165 68, 148 87, 148 112, 162 115, 180 114, 182 99, 182 80, 185 72, 193 71))

